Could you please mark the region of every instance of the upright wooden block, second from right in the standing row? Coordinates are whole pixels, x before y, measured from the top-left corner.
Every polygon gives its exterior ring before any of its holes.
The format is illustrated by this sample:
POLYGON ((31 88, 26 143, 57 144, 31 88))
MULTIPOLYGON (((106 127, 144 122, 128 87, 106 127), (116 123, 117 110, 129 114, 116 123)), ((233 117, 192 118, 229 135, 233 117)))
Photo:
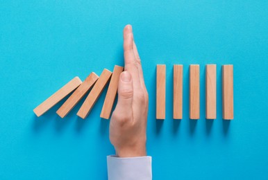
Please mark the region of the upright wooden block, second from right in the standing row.
POLYGON ((206 65, 206 118, 216 119, 216 64, 206 65))

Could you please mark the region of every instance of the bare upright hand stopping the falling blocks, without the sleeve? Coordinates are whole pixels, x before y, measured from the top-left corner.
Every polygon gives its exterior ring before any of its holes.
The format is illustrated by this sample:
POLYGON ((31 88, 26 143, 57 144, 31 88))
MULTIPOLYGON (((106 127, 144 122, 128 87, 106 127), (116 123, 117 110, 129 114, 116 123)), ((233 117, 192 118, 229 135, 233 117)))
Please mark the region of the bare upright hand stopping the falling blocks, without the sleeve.
POLYGON ((110 120, 110 142, 119 157, 146 156, 148 93, 131 25, 124 28, 124 61, 110 120))

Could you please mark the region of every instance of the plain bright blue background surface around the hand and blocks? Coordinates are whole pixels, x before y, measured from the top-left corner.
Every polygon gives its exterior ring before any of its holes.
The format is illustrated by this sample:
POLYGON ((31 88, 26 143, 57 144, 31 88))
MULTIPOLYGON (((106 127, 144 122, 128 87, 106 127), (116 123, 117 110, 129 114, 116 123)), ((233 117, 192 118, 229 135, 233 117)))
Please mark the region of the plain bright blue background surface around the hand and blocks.
POLYGON ((268 1, 0 0, 0 179, 107 179, 114 154, 99 114, 33 109, 78 75, 123 65, 132 24, 149 91, 153 179, 268 179, 268 1), (205 119, 205 65, 217 64, 217 119, 205 119), (167 64, 156 120, 156 64, 167 64), (172 119, 173 64, 183 64, 183 120, 172 119), (189 120, 189 64, 200 64, 201 118, 189 120), (235 120, 221 119, 221 65, 234 64, 235 120))

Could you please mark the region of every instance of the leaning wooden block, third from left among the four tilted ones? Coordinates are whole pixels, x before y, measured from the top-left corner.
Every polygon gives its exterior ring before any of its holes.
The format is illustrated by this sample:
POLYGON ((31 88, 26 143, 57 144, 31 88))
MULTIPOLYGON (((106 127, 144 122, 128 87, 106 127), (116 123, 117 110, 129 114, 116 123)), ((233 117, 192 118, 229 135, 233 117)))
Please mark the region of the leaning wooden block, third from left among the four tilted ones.
POLYGON ((101 95, 101 92, 103 91, 104 87, 110 80, 110 76, 112 75, 112 72, 108 69, 104 69, 99 76, 99 80, 97 80, 96 84, 90 91, 89 95, 85 99, 85 102, 83 102, 83 105, 79 109, 77 116, 81 118, 86 118, 87 115, 90 113, 90 110, 94 106, 95 102, 97 102, 99 96, 101 95))

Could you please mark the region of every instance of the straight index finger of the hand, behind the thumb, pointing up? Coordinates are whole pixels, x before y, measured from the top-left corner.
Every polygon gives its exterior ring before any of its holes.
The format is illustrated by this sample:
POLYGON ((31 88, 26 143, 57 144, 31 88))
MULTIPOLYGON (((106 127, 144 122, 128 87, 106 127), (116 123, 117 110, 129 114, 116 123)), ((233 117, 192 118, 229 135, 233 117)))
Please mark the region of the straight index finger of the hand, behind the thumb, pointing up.
POLYGON ((133 88, 140 89, 140 75, 133 51, 133 33, 131 25, 124 28, 124 60, 125 70, 131 73, 133 88))

